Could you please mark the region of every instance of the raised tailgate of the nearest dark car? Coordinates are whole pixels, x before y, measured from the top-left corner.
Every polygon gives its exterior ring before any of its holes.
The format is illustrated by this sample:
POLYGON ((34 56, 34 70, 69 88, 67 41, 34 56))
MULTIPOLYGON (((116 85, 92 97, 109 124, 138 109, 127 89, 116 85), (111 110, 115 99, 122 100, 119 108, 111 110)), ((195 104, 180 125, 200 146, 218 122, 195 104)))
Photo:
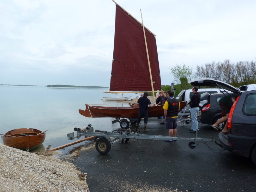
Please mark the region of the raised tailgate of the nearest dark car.
POLYGON ((232 85, 229 85, 228 83, 225 83, 223 81, 218 81, 212 78, 200 78, 200 79, 194 79, 189 82, 193 86, 209 86, 209 87, 220 87, 222 89, 225 89, 226 91, 232 91, 233 93, 240 94, 241 91, 237 87, 233 87, 232 85))

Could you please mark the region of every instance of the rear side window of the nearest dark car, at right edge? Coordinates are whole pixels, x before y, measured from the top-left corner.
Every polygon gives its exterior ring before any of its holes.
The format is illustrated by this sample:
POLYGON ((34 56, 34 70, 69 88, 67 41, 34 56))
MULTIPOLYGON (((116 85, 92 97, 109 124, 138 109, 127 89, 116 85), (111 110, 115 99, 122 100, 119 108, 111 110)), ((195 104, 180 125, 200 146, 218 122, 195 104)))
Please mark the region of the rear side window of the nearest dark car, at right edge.
POLYGON ((243 105, 243 114, 256 116, 256 93, 248 94, 243 105))

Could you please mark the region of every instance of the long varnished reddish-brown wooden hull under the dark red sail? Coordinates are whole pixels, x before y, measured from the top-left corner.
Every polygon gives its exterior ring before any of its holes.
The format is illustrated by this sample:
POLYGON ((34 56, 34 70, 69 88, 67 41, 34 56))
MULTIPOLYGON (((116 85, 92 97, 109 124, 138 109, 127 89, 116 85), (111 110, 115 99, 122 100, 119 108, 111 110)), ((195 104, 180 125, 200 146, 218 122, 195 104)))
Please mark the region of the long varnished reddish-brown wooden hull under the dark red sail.
MULTIPOLYGON (((180 102, 180 111, 186 106, 186 102, 180 102)), ((85 110, 79 109, 79 113, 85 117, 114 117, 114 118, 138 118, 139 107, 104 107, 90 106, 86 104, 85 110)), ((163 105, 148 108, 148 117, 164 116, 163 105)))

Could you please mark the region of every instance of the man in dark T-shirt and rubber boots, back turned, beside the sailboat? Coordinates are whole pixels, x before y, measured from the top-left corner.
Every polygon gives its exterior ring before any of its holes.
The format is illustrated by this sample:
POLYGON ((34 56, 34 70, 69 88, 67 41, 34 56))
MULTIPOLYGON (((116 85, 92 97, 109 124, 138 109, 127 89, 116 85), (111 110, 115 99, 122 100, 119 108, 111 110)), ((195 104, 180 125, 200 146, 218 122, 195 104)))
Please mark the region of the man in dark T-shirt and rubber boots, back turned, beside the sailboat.
POLYGON ((146 133, 147 130, 147 118, 148 118, 148 111, 147 111, 147 107, 151 107, 151 102, 149 100, 149 98, 147 98, 147 96, 149 95, 149 93, 147 93, 147 91, 144 92, 143 97, 140 97, 137 101, 136 104, 134 105, 139 105, 139 116, 137 119, 137 123, 135 125, 135 130, 138 130, 138 126, 139 123, 141 122, 141 118, 144 118, 144 126, 143 126, 143 132, 146 133))

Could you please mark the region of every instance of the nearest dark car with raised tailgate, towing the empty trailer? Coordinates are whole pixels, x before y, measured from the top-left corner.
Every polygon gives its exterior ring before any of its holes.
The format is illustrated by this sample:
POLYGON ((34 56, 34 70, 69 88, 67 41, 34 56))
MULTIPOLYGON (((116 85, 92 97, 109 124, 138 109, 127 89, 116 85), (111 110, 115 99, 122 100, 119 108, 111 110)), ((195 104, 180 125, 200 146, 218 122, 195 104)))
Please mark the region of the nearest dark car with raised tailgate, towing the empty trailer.
POLYGON ((220 132, 219 141, 224 149, 249 157, 256 164, 256 85, 241 86, 241 91, 211 78, 196 79, 189 83, 193 86, 219 86, 238 94, 227 120, 229 134, 220 132))

